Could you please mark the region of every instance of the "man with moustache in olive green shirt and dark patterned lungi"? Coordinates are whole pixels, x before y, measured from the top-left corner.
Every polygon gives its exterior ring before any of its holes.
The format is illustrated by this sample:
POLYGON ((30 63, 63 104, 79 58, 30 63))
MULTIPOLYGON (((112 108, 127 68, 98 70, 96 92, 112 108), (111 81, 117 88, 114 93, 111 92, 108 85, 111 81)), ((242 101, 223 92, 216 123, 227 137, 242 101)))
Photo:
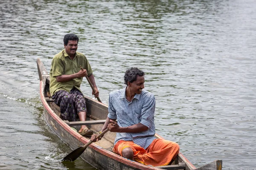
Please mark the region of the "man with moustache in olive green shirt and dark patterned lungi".
MULTIPOLYGON (((64 36, 64 50, 53 57, 50 70, 50 94, 60 107, 63 119, 68 121, 76 121, 77 115, 80 121, 86 120, 86 102, 80 89, 83 77, 88 76, 95 91, 92 94, 95 97, 99 96, 88 60, 84 54, 76 52, 78 41, 76 34, 64 36)), ((82 136, 89 136, 93 131, 82 125, 79 133, 82 136)))

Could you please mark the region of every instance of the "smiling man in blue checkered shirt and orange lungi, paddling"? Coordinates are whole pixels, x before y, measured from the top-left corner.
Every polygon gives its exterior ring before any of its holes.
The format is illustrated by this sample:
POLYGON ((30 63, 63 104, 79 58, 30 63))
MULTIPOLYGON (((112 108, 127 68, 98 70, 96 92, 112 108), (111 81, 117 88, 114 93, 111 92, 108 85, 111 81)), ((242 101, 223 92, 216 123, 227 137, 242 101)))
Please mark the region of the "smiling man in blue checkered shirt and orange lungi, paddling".
MULTIPOLYGON (((125 72, 127 86, 109 94, 108 118, 101 131, 116 132, 114 153, 145 165, 164 166, 175 160, 180 147, 154 137, 155 98, 143 90, 144 75, 138 68, 125 72)), ((96 136, 91 137, 93 142, 100 140, 96 136)))

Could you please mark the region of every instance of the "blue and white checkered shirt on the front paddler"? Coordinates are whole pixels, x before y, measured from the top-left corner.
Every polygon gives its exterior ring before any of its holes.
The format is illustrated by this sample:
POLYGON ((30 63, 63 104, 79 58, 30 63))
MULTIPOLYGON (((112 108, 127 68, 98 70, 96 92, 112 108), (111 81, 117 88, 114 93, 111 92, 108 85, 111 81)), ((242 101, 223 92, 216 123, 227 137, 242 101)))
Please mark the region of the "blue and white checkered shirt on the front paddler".
POLYGON ((119 140, 133 141, 146 149, 156 139, 154 137, 154 95, 143 90, 141 94, 135 94, 134 98, 129 102, 125 97, 125 90, 126 88, 123 88, 109 94, 108 117, 117 119, 120 127, 141 123, 148 127, 148 130, 140 133, 116 133, 114 144, 119 140))

